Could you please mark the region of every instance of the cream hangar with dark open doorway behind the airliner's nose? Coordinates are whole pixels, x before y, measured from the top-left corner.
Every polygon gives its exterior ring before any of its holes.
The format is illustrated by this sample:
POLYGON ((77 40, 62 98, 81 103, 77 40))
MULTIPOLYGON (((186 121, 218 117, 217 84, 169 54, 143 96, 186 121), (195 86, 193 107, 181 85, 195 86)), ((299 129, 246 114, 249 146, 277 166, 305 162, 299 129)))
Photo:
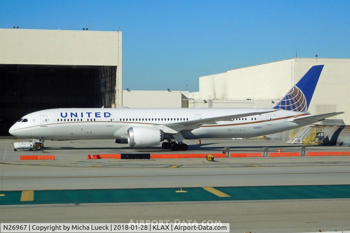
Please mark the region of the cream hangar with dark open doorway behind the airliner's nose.
POLYGON ((30 112, 120 107, 122 33, 0 29, 0 135, 30 112))

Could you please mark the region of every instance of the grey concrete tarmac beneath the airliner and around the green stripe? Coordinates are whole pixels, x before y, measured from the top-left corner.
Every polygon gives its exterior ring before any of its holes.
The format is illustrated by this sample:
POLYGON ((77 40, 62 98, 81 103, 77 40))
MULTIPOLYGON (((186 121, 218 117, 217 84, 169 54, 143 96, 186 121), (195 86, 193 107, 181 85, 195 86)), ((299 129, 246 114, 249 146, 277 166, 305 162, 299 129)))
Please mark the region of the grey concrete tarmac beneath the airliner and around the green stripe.
MULTIPOLYGON (((22 140, 26 141, 26 140, 22 140)), ((13 139, 0 140, 1 191, 163 187, 322 185, 350 183, 350 156, 87 160, 87 154, 299 152, 301 145, 265 140, 187 141, 189 150, 132 149, 113 140, 45 141, 43 151, 14 152, 13 139), (20 161, 19 155, 55 155, 54 161, 20 161), (174 163, 174 167, 172 166, 174 163), (254 166, 255 163, 255 166, 254 166)), ((349 151, 348 147, 307 146, 306 151, 349 151)), ((1 198, 1 197, 0 197, 1 198)), ((221 220, 231 232, 350 230, 349 199, 111 203, 1 206, 1 222, 114 222, 133 220, 221 220)))

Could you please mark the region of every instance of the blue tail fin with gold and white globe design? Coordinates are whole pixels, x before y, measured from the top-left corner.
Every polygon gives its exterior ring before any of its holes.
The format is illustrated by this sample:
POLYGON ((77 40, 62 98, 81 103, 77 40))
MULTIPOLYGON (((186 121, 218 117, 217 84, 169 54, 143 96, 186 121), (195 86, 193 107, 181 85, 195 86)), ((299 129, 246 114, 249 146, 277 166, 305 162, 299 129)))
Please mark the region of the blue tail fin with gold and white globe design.
POLYGON ((307 112, 323 65, 313 66, 273 108, 307 112))

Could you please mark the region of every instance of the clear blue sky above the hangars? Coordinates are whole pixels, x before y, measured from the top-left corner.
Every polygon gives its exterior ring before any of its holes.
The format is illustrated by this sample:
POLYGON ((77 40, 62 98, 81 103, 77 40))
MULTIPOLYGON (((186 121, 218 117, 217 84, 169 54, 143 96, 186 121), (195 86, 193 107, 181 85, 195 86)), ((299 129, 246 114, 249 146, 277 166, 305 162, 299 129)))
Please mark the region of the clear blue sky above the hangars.
POLYGON ((123 31, 123 89, 295 57, 349 58, 350 1, 8 1, 0 28, 123 31))

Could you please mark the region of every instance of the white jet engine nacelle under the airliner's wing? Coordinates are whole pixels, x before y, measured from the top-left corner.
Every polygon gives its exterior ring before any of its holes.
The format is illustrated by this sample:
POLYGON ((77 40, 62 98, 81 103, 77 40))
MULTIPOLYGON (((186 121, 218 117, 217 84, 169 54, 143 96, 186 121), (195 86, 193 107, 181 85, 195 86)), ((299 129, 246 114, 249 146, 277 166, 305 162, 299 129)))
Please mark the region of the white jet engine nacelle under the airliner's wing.
POLYGON ((128 129, 128 143, 131 147, 156 146, 163 140, 163 132, 157 128, 135 126, 128 129))

